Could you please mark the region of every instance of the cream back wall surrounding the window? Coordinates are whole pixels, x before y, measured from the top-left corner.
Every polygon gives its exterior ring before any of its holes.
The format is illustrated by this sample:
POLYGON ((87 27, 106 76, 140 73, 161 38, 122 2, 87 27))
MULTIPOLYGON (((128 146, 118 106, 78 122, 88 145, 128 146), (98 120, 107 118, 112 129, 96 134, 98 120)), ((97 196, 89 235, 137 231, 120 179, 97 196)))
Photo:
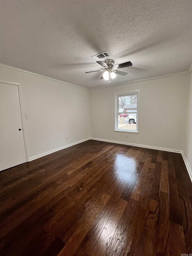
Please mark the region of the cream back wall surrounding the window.
POLYGON ((189 75, 90 91, 91 137, 182 150, 189 75), (140 89, 139 134, 114 132, 114 94, 140 89))

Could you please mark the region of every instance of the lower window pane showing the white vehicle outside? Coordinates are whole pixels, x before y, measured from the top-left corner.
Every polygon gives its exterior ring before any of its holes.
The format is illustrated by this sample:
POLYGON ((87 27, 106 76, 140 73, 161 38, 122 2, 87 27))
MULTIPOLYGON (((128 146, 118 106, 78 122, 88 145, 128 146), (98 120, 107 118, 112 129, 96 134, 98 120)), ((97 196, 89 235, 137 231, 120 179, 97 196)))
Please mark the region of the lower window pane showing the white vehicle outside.
POLYGON ((124 113, 118 115, 118 129, 136 131, 137 114, 133 113, 125 116, 124 113))

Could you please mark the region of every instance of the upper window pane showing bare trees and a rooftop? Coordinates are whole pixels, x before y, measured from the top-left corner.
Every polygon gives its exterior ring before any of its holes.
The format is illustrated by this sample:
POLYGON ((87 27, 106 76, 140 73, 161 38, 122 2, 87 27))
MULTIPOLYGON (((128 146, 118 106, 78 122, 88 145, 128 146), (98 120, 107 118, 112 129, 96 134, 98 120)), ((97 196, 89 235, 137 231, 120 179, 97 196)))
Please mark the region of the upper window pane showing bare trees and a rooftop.
POLYGON ((119 96, 119 110, 118 112, 136 112, 137 111, 137 94, 119 96))

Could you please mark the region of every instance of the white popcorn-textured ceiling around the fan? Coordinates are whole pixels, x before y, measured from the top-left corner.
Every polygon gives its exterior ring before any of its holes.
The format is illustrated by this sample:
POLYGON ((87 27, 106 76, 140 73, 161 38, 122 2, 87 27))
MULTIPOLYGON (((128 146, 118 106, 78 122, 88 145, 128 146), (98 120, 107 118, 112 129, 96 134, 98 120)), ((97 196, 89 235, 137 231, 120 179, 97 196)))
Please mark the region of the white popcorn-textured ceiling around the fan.
POLYGON ((172 74, 191 65, 191 24, 191 0, 1 0, 0 62, 87 88, 108 85, 85 74, 105 50, 133 63, 112 85, 172 74))

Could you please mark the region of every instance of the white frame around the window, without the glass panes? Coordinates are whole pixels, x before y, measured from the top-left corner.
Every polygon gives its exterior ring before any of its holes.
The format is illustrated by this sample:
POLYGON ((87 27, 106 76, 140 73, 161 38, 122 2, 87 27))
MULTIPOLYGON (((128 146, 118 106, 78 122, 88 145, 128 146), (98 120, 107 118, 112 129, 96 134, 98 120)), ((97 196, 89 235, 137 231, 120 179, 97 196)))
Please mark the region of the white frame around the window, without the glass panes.
POLYGON ((127 92, 127 93, 121 93, 121 94, 115 94, 114 97, 115 97, 115 104, 114 104, 115 109, 114 109, 114 130, 113 131, 139 134, 140 90, 131 91, 131 92, 127 92), (136 94, 137 94, 137 111, 135 111, 135 113, 137 113, 136 131, 119 129, 118 128, 118 115, 120 112, 118 112, 118 110, 119 110, 118 99, 121 96, 136 95, 136 94))

